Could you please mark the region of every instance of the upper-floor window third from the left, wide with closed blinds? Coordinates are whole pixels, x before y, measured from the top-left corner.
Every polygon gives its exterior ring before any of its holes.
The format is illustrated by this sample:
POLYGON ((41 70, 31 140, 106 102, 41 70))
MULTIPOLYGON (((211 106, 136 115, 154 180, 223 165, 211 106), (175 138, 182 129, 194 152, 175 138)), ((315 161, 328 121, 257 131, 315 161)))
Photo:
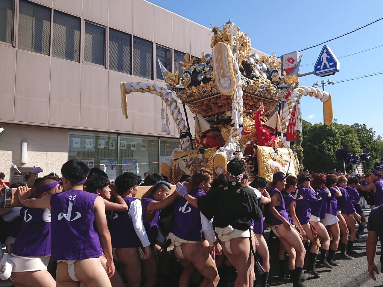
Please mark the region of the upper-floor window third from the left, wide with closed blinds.
POLYGON ((80 31, 80 18, 55 10, 53 14, 52 55, 79 62, 80 31))

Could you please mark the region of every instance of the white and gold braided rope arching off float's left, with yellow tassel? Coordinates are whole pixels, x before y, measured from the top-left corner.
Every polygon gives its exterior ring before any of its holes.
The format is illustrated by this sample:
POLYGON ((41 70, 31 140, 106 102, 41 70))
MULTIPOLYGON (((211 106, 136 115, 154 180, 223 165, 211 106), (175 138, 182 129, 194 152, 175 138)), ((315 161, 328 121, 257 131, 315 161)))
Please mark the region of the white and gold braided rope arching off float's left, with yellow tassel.
MULTIPOLYGON (((161 88, 158 85, 152 85, 151 83, 130 83, 123 82, 121 83, 121 91, 125 90, 126 94, 130 94, 132 92, 141 92, 141 93, 152 93, 154 95, 160 96, 162 100, 166 103, 166 106, 169 108, 170 113, 173 116, 173 120, 178 128, 178 132, 188 132, 187 126, 185 126, 185 120, 182 117, 182 113, 180 112, 180 108, 178 107, 177 101, 173 99, 172 93, 169 93, 164 88, 161 88), (124 85, 124 89, 123 89, 124 85)), ((121 95, 121 108, 123 109, 123 114, 126 115, 126 111, 123 104, 123 97, 125 95, 121 95)), ((182 150, 190 150, 190 137, 187 136, 184 139, 180 139, 180 149, 182 150)))

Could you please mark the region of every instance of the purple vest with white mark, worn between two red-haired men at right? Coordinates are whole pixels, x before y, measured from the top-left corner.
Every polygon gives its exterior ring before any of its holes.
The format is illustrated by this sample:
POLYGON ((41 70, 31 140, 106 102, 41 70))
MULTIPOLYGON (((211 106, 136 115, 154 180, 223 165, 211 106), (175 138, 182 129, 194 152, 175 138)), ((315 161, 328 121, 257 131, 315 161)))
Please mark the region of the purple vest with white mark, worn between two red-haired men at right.
POLYGON ((311 204, 316 201, 318 201, 318 198, 311 188, 305 188, 301 184, 298 186, 295 201, 295 212, 296 217, 302 225, 309 223, 311 215, 311 204))

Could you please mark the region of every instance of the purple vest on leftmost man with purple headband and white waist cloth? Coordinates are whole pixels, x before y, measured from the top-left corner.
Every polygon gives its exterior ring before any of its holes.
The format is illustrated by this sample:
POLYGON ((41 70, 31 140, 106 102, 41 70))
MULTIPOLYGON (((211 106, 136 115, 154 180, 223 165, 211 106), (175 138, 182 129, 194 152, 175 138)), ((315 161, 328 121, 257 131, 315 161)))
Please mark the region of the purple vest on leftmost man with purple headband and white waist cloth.
POLYGON ((51 255, 51 212, 49 209, 23 207, 21 230, 13 245, 17 256, 51 255))

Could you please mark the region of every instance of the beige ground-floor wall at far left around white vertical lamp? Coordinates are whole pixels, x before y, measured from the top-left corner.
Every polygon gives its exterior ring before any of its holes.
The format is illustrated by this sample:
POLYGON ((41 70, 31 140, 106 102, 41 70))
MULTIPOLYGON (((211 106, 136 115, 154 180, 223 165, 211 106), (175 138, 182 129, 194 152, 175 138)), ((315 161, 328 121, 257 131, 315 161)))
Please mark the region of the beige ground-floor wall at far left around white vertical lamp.
MULTIPOLYGON (((0 157, 4 160, 14 160, 17 167, 40 166, 44 176, 53 172, 60 173, 61 166, 68 160, 67 129, 48 127, 21 126, 2 124, 4 132, 1 137, 0 157), (7 132, 8 131, 8 132, 7 132), (22 164, 21 142, 28 142, 27 163, 22 164)), ((10 178, 11 165, 9 161, 0 161, 0 170, 5 173, 5 179, 10 178)))

